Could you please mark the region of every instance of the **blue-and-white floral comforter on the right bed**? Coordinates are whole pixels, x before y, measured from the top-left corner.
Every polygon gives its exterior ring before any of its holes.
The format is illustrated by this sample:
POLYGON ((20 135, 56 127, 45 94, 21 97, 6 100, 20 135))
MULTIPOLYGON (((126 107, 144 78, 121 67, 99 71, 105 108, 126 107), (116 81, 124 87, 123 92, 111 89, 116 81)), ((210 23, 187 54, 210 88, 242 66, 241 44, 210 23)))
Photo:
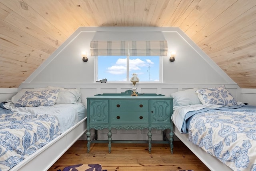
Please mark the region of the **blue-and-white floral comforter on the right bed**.
POLYGON ((191 112, 189 141, 234 171, 256 171, 256 107, 191 112))

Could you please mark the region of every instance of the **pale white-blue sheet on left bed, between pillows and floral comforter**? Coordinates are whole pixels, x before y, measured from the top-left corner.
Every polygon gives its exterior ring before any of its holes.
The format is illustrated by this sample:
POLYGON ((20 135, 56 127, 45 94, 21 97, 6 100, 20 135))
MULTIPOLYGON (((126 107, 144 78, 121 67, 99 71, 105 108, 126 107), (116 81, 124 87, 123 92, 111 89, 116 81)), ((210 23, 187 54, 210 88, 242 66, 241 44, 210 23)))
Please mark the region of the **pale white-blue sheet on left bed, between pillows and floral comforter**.
POLYGON ((4 104, 6 109, 20 114, 50 114, 54 115, 60 123, 60 133, 63 133, 78 121, 86 117, 86 107, 83 103, 55 104, 53 106, 15 107, 14 103, 4 104))

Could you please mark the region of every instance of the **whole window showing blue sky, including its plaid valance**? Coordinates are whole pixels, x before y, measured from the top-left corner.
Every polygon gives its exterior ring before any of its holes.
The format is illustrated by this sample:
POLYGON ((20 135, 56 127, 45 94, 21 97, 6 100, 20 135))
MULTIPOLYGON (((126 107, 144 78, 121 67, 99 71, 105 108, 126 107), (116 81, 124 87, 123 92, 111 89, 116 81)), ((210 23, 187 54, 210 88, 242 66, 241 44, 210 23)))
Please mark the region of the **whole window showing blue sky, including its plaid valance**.
POLYGON ((166 40, 90 42, 95 56, 96 80, 128 82, 133 73, 140 82, 162 82, 162 56, 167 55, 166 40))

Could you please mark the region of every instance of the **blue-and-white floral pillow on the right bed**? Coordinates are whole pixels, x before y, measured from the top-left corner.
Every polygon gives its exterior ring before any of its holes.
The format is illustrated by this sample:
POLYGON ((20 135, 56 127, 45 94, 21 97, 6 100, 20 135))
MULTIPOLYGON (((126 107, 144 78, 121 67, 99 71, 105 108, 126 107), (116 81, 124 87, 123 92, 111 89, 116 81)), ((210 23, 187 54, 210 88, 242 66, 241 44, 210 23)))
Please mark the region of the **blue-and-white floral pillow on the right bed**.
POLYGON ((198 89, 195 91, 198 93, 198 98, 202 104, 215 104, 215 105, 236 105, 236 99, 226 89, 225 85, 220 87, 198 89))

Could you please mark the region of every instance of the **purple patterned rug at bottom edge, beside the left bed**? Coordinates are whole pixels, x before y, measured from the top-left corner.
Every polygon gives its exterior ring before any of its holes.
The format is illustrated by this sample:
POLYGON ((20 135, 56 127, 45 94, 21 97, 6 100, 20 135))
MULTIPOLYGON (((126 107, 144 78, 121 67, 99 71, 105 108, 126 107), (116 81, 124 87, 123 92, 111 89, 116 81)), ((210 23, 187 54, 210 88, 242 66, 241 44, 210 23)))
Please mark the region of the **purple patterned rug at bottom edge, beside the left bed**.
POLYGON ((62 170, 57 171, 107 171, 102 170, 102 167, 100 164, 78 164, 73 166, 67 166, 62 170))

